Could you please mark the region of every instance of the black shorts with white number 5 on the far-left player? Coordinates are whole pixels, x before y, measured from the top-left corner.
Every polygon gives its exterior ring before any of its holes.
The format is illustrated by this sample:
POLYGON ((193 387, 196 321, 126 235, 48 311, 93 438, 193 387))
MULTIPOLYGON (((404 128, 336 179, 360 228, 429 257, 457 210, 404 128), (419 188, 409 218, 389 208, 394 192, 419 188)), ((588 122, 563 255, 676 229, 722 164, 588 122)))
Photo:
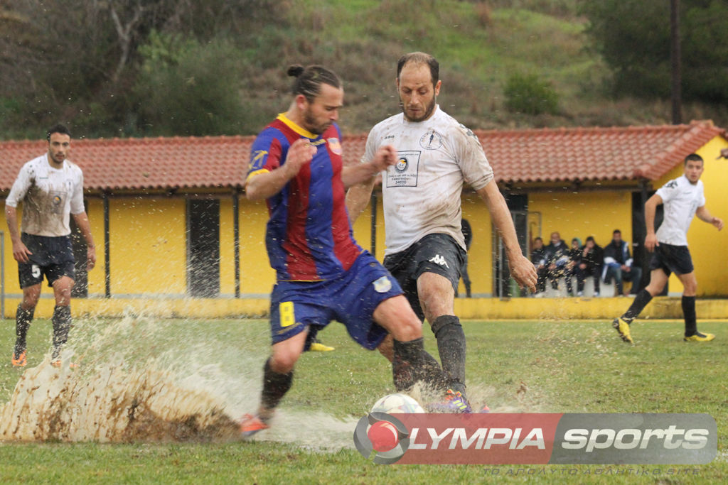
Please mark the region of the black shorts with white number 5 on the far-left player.
POLYGON ((17 263, 17 279, 21 289, 41 284, 43 276, 47 278, 48 286, 52 286, 61 276, 76 279, 70 236, 47 237, 22 233, 20 241, 33 253, 28 256, 28 262, 17 263))

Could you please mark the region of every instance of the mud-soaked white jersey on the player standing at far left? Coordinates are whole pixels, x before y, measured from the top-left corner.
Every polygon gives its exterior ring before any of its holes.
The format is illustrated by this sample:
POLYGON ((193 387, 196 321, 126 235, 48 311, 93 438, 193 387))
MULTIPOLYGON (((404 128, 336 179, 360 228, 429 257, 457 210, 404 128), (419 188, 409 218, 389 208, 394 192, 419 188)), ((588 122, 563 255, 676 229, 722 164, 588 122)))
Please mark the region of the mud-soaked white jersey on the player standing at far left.
POLYGON ((84 212, 84 175, 68 160, 55 169, 48 155, 28 161, 12 184, 5 204, 16 207, 23 202, 20 231, 36 236, 68 236, 70 214, 84 212))

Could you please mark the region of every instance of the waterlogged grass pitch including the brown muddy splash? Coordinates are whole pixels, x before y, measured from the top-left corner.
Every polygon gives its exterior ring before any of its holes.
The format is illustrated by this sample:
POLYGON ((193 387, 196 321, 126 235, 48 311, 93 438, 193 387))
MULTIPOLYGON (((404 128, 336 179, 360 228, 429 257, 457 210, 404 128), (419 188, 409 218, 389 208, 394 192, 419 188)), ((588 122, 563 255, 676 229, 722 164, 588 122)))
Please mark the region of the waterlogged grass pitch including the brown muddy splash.
MULTIPOLYGON (((294 484, 320 483, 325 477, 327 483, 343 484, 351 483, 355 473, 357 482, 384 484, 434 483, 456 473, 459 481, 473 483, 486 476, 529 476, 537 483, 613 484, 632 483, 648 470, 619 463, 598 468, 375 465, 357 452, 352 436, 372 404, 395 392, 391 368, 379 353, 358 348, 339 324, 320 333, 336 350, 301 357, 293 388, 272 428, 252 441, 237 436, 237 420, 258 404, 269 352, 265 321, 76 318, 60 369, 44 356, 50 323, 41 320, 33 322, 28 335, 28 367, 10 366, 13 324, 6 320, 0 327, 0 355, 7 354, 0 361, 0 481, 294 484), (69 361, 79 367, 70 369, 69 361)), ((708 465, 650 465, 651 478, 645 480, 725 482, 728 413, 722 390, 728 372, 728 326, 700 322, 703 331, 717 337, 698 345, 682 342, 681 326, 679 321, 640 321, 633 329, 638 345, 625 345, 606 321, 467 321, 468 391, 472 400, 488 404, 490 416, 709 414, 719 435, 716 458, 708 465)), ((425 340, 436 356, 432 335, 426 334, 425 340)), ((611 436, 607 425, 571 429, 565 442, 575 447, 573 452, 589 446, 597 451, 611 436)), ((617 437, 619 430, 614 430, 612 447, 637 439, 627 432, 617 437)), ((412 445, 429 447, 429 434, 424 429, 419 433, 412 445)), ((440 446, 454 433, 444 436, 440 446)), ((699 435, 691 432, 681 438, 695 444, 699 435)), ((488 452, 488 439, 491 452, 510 444, 539 449, 531 444, 540 437, 529 436, 526 428, 518 436, 514 431, 505 445, 499 444, 505 435, 478 431, 462 434, 462 440, 473 436, 470 447, 480 454, 488 452)), ((653 435, 649 443, 657 438, 653 435)), ((673 433, 670 439, 677 438, 673 433)))

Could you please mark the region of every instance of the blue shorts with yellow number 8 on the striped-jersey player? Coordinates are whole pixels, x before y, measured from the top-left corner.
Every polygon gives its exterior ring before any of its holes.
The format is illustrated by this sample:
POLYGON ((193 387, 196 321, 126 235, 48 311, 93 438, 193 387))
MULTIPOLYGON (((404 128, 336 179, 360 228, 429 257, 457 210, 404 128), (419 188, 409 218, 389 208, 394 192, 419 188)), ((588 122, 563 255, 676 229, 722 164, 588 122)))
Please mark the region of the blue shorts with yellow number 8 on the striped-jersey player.
POLYGON ((272 342, 288 340, 309 326, 309 335, 314 335, 336 320, 347 327, 355 342, 374 349, 387 336, 387 330, 373 321, 374 310, 402 293, 395 278, 366 251, 339 278, 278 281, 271 294, 272 342))

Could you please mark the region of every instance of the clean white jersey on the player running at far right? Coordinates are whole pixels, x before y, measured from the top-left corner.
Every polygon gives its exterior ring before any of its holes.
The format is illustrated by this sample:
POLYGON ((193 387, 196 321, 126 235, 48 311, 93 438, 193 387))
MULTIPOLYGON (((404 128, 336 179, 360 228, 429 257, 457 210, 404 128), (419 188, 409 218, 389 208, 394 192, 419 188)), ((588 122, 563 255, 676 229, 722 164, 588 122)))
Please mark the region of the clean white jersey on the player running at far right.
POLYGON ((657 241, 673 246, 687 246, 687 230, 698 207, 705 205, 703 181, 694 185, 685 175, 657 190, 665 207, 665 218, 657 229, 657 241))

